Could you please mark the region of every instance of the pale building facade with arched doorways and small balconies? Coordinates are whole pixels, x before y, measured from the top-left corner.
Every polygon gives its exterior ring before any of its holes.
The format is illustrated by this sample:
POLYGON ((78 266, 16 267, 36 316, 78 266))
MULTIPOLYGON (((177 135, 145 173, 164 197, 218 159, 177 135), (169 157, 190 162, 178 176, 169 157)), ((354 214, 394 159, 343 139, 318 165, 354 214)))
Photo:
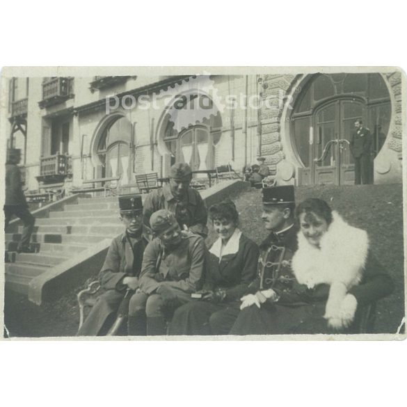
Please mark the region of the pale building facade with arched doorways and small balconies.
POLYGON ((353 184, 356 119, 373 135, 372 182, 401 182, 400 72, 6 80, 7 145, 30 191, 112 177, 130 191, 175 161, 204 177, 259 155, 279 184, 353 184))

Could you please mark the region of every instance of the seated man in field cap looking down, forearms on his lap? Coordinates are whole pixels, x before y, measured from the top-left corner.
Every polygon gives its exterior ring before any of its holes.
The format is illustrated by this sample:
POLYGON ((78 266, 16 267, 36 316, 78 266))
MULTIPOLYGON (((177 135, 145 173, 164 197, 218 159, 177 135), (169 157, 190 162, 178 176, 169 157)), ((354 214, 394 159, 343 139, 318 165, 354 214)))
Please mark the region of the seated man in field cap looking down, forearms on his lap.
POLYGON ((154 212, 150 225, 154 239, 145 248, 140 290, 131 297, 130 309, 138 321, 147 317, 147 335, 164 335, 175 308, 202 288, 207 248, 198 234, 182 234, 166 209, 154 212))

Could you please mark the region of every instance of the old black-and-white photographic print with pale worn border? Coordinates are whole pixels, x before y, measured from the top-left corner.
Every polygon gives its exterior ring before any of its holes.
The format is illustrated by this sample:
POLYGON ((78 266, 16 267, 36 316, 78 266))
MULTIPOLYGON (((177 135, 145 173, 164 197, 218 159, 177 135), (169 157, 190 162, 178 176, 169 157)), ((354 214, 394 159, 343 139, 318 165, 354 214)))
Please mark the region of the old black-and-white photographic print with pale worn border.
POLYGON ((6 67, 0 126, 4 339, 405 337, 398 67, 6 67))

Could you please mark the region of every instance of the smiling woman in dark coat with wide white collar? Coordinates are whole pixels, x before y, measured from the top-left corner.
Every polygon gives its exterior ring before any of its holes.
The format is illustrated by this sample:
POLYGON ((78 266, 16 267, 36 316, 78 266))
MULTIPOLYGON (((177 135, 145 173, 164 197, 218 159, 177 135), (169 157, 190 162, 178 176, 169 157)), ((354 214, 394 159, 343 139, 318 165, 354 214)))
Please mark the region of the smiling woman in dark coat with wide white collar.
MULTIPOLYGON (((238 228, 239 214, 230 200, 209 208, 218 239, 209 249, 202 299, 175 311, 170 335, 221 335, 219 321, 239 314, 240 298, 256 276, 259 248, 238 228), (218 327, 216 331, 214 326, 218 327)), ((230 325, 229 325, 230 326, 230 325)))

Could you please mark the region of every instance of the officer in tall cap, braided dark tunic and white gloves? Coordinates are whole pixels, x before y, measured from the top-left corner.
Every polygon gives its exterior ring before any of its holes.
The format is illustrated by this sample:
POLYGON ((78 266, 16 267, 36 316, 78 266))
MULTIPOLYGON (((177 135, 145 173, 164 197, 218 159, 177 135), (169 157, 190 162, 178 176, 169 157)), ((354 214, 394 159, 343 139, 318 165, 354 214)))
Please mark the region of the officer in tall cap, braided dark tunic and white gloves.
POLYGON ((241 311, 230 331, 233 335, 267 333, 269 310, 275 301, 292 301, 291 260, 298 247, 294 210, 294 186, 263 189, 262 219, 270 234, 260 244, 258 275, 241 298, 241 311))

